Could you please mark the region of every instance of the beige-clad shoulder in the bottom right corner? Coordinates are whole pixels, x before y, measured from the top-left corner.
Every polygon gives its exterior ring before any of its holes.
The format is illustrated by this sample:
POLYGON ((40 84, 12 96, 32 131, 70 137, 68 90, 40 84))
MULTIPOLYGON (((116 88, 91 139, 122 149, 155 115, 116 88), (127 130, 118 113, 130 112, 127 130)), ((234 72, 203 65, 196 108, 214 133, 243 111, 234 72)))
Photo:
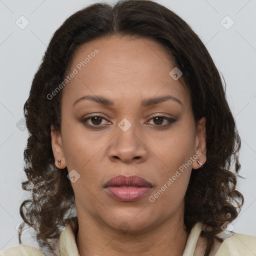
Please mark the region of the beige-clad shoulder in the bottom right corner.
POLYGON ((215 256, 254 256, 256 255, 256 236, 233 233, 220 244, 215 256))

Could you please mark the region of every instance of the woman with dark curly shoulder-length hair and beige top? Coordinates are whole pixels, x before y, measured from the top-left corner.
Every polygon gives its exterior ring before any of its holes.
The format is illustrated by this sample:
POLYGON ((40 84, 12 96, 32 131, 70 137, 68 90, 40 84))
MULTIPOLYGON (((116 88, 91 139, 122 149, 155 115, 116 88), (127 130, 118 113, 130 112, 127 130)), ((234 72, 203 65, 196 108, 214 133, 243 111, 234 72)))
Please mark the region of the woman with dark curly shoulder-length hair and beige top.
POLYGON ((68 17, 24 114, 20 214, 41 249, 19 234, 0 255, 255 255, 255 236, 227 230, 243 204, 234 118, 174 12, 122 0, 68 17))

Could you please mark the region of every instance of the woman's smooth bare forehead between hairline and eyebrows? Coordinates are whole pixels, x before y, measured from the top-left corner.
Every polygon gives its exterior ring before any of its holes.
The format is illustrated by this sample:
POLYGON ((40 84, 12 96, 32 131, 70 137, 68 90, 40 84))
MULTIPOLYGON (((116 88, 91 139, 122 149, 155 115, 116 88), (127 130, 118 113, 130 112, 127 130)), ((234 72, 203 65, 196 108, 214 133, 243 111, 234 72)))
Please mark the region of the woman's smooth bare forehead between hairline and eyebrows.
POLYGON ((174 80, 173 57, 147 38, 112 35, 85 43, 72 56, 67 74, 76 73, 64 87, 63 97, 75 101, 86 94, 108 98, 147 98, 172 93, 189 101, 182 76, 174 80))

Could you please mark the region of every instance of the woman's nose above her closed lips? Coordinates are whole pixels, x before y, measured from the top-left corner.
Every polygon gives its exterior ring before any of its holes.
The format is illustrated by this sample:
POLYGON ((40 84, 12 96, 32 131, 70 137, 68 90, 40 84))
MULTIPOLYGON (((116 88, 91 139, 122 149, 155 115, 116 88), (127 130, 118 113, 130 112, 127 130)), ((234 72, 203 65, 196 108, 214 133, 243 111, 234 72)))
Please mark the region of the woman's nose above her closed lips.
POLYGON ((144 136, 131 125, 127 130, 116 127, 116 135, 111 140, 108 157, 111 161, 125 163, 143 162, 146 160, 148 148, 144 136))

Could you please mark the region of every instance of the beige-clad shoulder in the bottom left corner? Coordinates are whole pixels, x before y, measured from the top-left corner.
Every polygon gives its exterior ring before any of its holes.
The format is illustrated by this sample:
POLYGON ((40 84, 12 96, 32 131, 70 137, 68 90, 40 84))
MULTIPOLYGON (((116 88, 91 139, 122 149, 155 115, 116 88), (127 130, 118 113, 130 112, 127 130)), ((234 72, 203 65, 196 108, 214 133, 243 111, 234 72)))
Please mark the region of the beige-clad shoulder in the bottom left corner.
POLYGON ((10 247, 0 252, 0 256, 43 256, 43 253, 26 244, 19 244, 18 246, 10 247))

